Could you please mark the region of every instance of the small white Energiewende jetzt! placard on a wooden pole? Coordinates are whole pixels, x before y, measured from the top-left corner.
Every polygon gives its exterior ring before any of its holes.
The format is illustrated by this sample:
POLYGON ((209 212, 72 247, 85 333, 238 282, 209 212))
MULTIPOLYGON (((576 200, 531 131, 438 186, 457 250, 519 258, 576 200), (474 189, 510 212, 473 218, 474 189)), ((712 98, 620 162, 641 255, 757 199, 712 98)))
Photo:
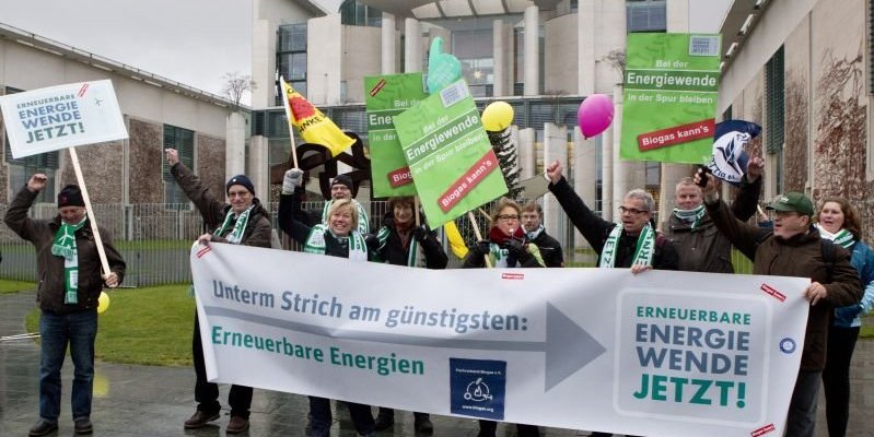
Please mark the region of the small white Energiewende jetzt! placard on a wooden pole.
POLYGON ((12 157, 128 138, 110 80, 0 97, 12 157))

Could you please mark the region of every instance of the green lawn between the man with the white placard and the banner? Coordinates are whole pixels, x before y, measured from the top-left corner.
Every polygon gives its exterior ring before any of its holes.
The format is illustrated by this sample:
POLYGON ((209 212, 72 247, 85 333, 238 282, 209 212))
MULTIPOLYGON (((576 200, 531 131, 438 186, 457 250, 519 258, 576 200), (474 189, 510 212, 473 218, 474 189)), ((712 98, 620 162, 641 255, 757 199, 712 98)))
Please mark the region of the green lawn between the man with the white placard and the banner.
MULTIPOLYGON (((107 293, 110 300, 100 317, 97 358, 125 364, 191 365, 195 298, 188 295, 188 285, 107 293)), ((27 332, 38 331, 38 310, 27 315, 27 332)))

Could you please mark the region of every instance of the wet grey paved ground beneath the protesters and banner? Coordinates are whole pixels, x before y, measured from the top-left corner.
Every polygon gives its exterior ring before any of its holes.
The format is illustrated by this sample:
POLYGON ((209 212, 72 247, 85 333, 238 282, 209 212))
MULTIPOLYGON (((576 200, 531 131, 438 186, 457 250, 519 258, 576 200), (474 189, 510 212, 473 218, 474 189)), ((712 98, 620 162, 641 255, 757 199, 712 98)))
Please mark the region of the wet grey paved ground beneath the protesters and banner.
MULTIPOLYGON (((34 307, 33 293, 0 296, 0 336, 24 332, 24 316, 34 307)), ((39 352, 32 340, 0 342, 0 436, 26 436, 37 417, 39 352)), ((94 382, 95 436, 223 436, 228 410, 215 426, 186 432, 183 422, 194 413, 194 370, 178 367, 129 366, 97 363, 94 382)), ((874 341, 860 341, 853 357, 853 410, 851 437, 874 437, 874 341)), ((65 393, 58 436, 72 436, 70 418, 72 364, 65 364, 65 393)), ((220 400, 228 399, 222 387, 220 400)), ((249 436, 304 436, 306 398, 256 390, 249 436)), ((817 437, 826 437, 825 417, 819 409, 817 437)), ((339 409, 334 436, 353 436, 345 409, 339 409)), ((476 436, 473 420, 432 416, 434 436, 476 436)), ((512 437, 515 427, 501 425, 499 435, 512 437), (504 433, 504 434, 501 434, 504 433)), ((585 436, 589 433, 549 428, 544 437, 585 436)), ((246 434, 244 434, 246 435, 246 434)), ((412 436, 412 415, 397 413, 393 429, 384 436, 412 436)))

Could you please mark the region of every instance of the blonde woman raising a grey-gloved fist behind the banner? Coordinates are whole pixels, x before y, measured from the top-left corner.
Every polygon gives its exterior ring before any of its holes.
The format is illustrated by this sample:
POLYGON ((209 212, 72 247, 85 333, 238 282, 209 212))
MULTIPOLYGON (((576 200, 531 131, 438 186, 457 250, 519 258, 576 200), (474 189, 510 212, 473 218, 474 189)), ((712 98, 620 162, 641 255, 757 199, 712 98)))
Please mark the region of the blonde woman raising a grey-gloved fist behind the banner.
MULTIPOLYGON (((352 261, 368 261, 373 258, 364 236, 358 232, 358 209, 350 199, 335 200, 327 211, 327 224, 307 226, 295 218, 301 208, 301 186, 303 170, 292 168, 285 172, 282 180, 282 194, 279 197, 279 227, 293 240, 304 247, 307 253, 348 258, 352 261)), ((348 402, 349 415, 356 430, 362 436, 374 433, 373 414, 370 405, 348 402)), ((330 400, 310 397, 311 435, 327 437, 333 422, 330 400)))

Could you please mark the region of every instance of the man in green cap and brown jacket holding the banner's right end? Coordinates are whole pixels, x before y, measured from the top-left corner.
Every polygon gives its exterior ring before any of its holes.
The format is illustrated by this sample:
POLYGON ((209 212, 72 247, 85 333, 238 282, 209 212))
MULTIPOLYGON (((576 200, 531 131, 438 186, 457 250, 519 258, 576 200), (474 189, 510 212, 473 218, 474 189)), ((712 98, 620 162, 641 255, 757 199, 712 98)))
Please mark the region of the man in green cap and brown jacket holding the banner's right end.
MULTIPOLYGON (((708 214, 732 244, 753 260, 753 273, 809 277, 804 297, 811 303, 801 368, 792 392, 786 436, 813 436, 819 379, 826 365, 829 316, 836 307, 852 305, 862 297, 862 285, 850 264, 850 252, 834 245, 827 257, 819 232, 813 224, 813 202, 800 192, 778 196, 767 210, 773 229, 759 228, 735 218, 719 199, 715 180, 707 175, 703 189, 708 214), (831 262, 827 261, 832 258, 831 262)), ((698 178, 698 176, 696 176, 698 178)))

